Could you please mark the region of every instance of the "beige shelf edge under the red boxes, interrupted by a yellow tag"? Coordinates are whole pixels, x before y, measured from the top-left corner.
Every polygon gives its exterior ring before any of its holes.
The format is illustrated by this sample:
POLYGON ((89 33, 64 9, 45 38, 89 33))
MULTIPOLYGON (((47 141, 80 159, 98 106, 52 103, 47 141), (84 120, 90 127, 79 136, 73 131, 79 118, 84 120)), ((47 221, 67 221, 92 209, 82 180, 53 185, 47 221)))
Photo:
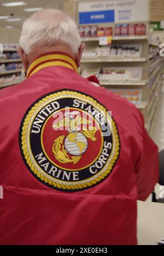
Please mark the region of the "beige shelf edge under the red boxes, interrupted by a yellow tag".
MULTIPOLYGON (((125 41, 125 40, 146 40, 147 36, 125 36, 125 37, 112 37, 112 41, 125 41)), ((81 38, 83 42, 99 42, 99 37, 81 38)))

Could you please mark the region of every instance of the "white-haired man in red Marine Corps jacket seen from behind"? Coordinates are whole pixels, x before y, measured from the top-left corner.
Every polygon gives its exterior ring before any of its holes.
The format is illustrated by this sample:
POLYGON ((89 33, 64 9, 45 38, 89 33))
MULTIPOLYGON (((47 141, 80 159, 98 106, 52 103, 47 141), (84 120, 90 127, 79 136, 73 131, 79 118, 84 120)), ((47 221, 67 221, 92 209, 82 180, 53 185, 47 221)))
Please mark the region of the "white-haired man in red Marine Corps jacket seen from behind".
POLYGON ((79 75, 83 50, 62 11, 22 27, 27 79, 0 92, 1 245, 137 243, 157 147, 136 107, 79 75))

